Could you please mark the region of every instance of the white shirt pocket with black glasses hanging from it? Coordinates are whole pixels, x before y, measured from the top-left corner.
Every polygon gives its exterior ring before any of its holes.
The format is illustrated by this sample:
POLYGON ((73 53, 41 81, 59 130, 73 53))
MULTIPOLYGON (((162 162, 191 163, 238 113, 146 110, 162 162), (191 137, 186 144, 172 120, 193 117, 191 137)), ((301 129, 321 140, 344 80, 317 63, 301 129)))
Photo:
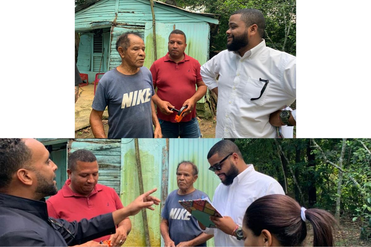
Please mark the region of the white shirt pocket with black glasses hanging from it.
POLYGON ((259 79, 253 79, 250 77, 249 79, 247 79, 245 89, 243 90, 243 99, 247 102, 251 102, 258 106, 262 106, 265 102, 265 98, 269 90, 269 82, 267 86, 265 87, 265 90, 263 91, 262 96, 260 96, 260 93, 264 86, 265 86, 264 81, 260 81, 259 79), (253 98, 259 98, 259 99, 251 100, 253 98))

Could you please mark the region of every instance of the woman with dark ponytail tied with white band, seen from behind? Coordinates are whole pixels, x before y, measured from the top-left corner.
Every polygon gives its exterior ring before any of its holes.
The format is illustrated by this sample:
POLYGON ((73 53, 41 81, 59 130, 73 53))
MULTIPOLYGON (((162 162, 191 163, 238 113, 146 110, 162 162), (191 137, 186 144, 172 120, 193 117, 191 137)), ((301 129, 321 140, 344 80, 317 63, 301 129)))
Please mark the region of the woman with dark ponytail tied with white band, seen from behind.
POLYGON ((306 223, 313 226, 313 246, 334 246, 335 218, 325 210, 305 209, 289 196, 263 196, 243 218, 244 246, 303 246, 306 223))

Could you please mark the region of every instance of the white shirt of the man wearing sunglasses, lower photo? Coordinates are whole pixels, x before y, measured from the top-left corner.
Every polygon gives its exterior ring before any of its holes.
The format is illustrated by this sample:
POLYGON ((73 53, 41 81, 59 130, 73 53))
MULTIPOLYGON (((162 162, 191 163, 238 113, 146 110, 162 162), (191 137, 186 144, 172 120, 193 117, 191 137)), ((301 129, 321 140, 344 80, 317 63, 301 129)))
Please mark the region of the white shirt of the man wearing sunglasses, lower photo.
MULTIPOLYGON (((254 166, 250 164, 234 178, 231 185, 219 184, 212 204, 222 216, 231 217, 234 223, 242 227, 247 207, 257 198, 270 194, 284 195, 285 192, 274 178, 255 171, 254 166)), ((272 205, 272 210, 274 210, 274 205, 272 205)), ((243 240, 237 240, 236 237, 217 228, 206 228, 204 232, 214 234, 215 246, 243 246, 243 240)))

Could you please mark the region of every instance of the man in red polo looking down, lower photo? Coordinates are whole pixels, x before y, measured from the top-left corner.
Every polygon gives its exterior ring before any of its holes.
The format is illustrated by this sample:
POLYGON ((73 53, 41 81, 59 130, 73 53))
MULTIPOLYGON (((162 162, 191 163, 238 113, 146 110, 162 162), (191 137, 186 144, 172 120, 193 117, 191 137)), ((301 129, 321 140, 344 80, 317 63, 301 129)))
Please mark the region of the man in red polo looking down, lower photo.
MULTIPOLYGON (((80 149, 70 154, 67 173, 69 179, 65 185, 46 201, 50 217, 89 220, 124 207, 113 188, 98 184, 98 162, 91 151, 80 149)), ((125 218, 116 226, 115 234, 94 241, 111 240, 112 246, 121 246, 130 230, 131 221, 125 218)))

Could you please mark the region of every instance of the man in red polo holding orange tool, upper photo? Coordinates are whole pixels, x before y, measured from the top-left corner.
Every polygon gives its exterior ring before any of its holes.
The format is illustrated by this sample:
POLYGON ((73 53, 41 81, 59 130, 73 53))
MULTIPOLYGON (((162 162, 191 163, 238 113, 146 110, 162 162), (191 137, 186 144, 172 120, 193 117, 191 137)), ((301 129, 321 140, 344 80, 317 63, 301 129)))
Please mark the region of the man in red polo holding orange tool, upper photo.
POLYGON ((152 96, 157 105, 157 117, 164 138, 200 138, 196 119, 196 102, 205 96, 207 87, 202 81, 200 63, 184 53, 185 34, 173 30, 169 35, 168 53, 156 60, 150 71, 157 93, 152 96), (196 90, 197 85, 197 90, 196 90), (180 123, 175 121, 177 111, 188 106, 180 123))

